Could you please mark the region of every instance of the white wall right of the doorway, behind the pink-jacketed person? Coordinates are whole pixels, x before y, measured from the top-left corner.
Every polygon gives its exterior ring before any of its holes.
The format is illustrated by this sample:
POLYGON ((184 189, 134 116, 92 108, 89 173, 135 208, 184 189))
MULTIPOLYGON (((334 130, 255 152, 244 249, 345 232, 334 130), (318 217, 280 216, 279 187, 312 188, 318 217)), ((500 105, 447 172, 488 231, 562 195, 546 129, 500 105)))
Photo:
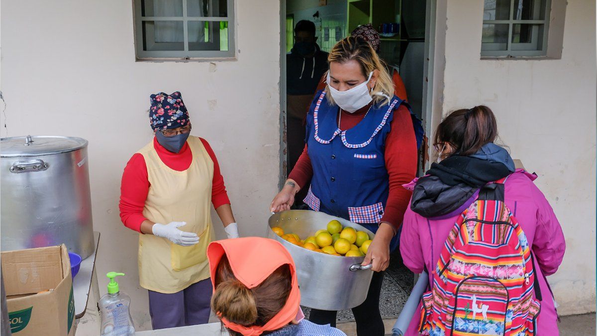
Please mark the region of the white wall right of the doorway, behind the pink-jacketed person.
POLYGON ((595 311, 595 1, 568 0, 558 60, 481 60, 482 13, 479 0, 438 1, 445 72, 434 102, 444 114, 493 109, 501 139, 538 174, 564 230, 564 262, 549 278, 559 313, 595 311))

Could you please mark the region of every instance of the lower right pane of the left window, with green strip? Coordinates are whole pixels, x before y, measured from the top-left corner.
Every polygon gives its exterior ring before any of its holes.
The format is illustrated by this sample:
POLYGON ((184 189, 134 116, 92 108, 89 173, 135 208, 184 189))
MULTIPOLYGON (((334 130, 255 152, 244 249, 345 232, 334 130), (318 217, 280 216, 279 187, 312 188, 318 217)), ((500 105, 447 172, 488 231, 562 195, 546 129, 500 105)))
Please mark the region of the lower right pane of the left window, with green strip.
POLYGON ((228 50, 227 21, 189 21, 189 50, 228 50))

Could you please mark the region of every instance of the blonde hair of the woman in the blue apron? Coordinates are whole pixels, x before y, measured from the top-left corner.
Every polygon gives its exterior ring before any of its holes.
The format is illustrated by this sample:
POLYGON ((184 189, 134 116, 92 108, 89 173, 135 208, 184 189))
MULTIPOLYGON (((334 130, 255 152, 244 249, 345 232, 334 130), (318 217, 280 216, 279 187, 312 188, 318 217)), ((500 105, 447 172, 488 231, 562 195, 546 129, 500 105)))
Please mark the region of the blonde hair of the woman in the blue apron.
MULTIPOLYGON (((330 55, 328 56, 328 63, 346 63, 349 60, 355 60, 359 63, 362 74, 365 78, 369 77, 369 73, 371 71, 379 71, 372 93, 381 92, 386 94, 388 97, 392 97, 394 95, 394 83, 392 81, 392 77, 390 77, 387 72, 387 68, 383 60, 380 60, 376 51, 371 47, 371 44, 365 41, 365 39, 361 36, 349 36, 342 39, 340 42, 334 45, 334 48, 332 48, 330 55)), ((330 92, 329 83, 326 84, 325 91, 330 92)), ((378 94, 373 95, 372 98, 373 102, 376 104, 384 103, 384 100, 387 100, 386 103, 390 102, 388 98, 378 94)), ((330 104, 335 104, 331 94, 328 94, 327 99, 330 104)))

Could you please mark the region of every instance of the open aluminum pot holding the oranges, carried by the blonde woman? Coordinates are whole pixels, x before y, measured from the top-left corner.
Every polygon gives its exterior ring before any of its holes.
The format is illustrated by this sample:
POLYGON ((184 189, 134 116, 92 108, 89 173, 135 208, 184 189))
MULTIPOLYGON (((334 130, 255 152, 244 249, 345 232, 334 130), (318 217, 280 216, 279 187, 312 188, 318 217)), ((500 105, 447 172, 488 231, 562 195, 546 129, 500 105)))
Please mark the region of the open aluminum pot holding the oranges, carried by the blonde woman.
POLYGON ((269 218, 266 236, 278 240, 293 256, 300 286, 301 304, 322 310, 349 309, 365 301, 373 277, 370 265, 363 268, 363 256, 335 256, 309 251, 293 245, 272 231, 281 227, 285 233, 296 233, 301 239, 313 236, 325 229, 328 222, 336 219, 343 227, 365 231, 370 239, 374 234, 359 224, 346 219, 310 210, 288 210, 275 213, 269 218))

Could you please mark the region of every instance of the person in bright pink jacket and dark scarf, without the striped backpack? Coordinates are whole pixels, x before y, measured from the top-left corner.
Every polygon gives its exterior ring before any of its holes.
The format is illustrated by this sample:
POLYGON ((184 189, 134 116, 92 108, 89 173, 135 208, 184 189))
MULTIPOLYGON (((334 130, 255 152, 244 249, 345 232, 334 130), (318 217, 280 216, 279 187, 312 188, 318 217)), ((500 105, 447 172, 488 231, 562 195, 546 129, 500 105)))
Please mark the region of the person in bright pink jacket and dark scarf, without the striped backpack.
MULTIPOLYGON (((555 273, 562 262, 564 234, 552 207, 533 183, 537 175, 515 169, 506 149, 494 144, 496 138, 496 118, 487 106, 460 109, 439 124, 435 146, 440 162, 433 163, 418 181, 405 185, 413 197, 402 224, 402 259, 414 273, 429 270, 429 282, 433 283, 433 271, 457 219, 481 198, 482 187, 494 181, 503 183, 500 197, 526 236, 528 245, 522 245, 529 246, 534 256, 539 287, 537 291, 535 285, 535 294, 541 293, 541 298, 536 297, 540 301, 536 335, 558 335, 555 301, 546 276, 555 273)), ((418 334, 421 305, 417 309, 405 335, 418 334)))

